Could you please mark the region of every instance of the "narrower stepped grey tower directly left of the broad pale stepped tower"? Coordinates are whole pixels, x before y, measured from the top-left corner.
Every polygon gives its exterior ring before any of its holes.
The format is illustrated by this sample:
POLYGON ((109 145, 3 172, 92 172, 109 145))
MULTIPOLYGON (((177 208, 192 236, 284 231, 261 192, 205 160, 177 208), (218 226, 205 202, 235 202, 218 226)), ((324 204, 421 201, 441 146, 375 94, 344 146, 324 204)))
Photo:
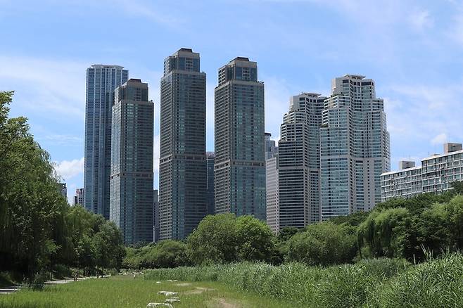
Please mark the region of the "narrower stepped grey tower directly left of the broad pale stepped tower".
POLYGON ((278 143, 279 228, 319 222, 319 129, 325 97, 302 93, 291 98, 278 143))

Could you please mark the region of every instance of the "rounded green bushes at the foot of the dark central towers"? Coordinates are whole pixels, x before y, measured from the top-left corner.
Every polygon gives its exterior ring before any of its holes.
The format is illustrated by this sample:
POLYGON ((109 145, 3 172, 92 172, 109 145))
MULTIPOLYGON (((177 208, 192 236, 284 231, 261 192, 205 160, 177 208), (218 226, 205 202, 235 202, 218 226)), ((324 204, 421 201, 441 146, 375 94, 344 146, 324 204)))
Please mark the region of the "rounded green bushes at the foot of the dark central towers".
POLYGON ((217 214, 205 217, 184 242, 162 240, 127 248, 123 265, 132 269, 179 267, 239 261, 269 261, 274 235, 267 224, 250 216, 217 214))

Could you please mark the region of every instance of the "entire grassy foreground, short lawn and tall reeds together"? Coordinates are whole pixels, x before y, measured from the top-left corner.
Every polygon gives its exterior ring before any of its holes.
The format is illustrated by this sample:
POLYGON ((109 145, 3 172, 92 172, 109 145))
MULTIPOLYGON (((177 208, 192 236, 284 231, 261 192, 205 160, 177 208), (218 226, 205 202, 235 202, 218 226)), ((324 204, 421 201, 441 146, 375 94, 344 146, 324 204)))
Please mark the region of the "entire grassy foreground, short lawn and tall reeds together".
POLYGON ((146 307, 164 302, 160 290, 179 293, 175 308, 458 308, 463 307, 463 255, 417 265, 369 259, 336 267, 244 262, 155 269, 137 278, 88 279, 0 295, 0 308, 146 307))

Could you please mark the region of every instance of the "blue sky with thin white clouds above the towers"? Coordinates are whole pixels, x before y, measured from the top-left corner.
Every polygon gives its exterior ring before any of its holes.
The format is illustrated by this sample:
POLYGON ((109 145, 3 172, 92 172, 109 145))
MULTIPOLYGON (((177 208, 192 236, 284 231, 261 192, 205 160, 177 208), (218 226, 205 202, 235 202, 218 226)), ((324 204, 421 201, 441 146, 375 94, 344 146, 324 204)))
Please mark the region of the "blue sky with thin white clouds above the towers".
POLYGON ((68 183, 83 186, 85 70, 123 65, 155 101, 158 184, 159 82, 180 47, 201 53, 207 73, 207 148, 214 148, 217 68, 258 61, 266 130, 279 139, 288 98, 329 95, 331 79, 376 81, 391 133, 391 162, 463 141, 463 1, 457 0, 0 0, 0 90, 68 183))

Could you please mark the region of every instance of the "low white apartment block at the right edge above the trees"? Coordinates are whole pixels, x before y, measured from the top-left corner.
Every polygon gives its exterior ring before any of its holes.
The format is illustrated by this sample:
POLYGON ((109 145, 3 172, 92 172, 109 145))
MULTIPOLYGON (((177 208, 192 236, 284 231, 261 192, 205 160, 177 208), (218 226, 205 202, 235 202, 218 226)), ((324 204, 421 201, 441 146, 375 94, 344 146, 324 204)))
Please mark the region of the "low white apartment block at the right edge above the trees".
POLYGON ((414 162, 399 162, 399 170, 381 174, 381 201, 410 198, 420 193, 442 193, 452 182, 463 181, 462 143, 445 143, 444 153, 414 162))

